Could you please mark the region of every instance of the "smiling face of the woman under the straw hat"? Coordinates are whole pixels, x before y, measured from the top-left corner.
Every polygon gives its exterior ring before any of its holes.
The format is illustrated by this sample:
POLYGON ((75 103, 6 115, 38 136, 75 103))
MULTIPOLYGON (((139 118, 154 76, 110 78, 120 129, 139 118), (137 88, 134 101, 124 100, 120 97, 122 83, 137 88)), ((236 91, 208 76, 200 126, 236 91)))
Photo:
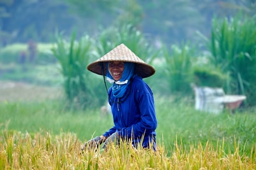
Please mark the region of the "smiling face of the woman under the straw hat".
POLYGON ((122 61, 109 61, 108 69, 115 81, 118 81, 122 78, 124 71, 124 62, 122 61))

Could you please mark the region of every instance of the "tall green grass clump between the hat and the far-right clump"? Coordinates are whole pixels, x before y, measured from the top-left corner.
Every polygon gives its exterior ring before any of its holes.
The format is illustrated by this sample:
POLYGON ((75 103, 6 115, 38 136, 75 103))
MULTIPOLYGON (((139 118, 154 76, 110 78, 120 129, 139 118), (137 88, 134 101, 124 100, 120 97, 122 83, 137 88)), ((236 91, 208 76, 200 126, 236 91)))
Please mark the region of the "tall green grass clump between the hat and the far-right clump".
POLYGON ((195 55, 194 48, 189 45, 172 45, 163 47, 163 64, 161 69, 163 76, 161 81, 166 83, 166 92, 176 94, 189 94, 190 83, 193 81, 192 58, 195 55))

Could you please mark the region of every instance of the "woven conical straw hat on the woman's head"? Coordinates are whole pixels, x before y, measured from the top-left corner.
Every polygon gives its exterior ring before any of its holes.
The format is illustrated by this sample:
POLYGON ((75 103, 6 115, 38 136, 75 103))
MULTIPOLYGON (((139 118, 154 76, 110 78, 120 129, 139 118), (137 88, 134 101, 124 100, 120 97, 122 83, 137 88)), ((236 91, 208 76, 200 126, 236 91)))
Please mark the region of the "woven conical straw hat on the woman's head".
POLYGON ((118 45, 110 52, 106 53, 104 56, 95 60, 87 66, 89 71, 93 73, 100 74, 106 76, 107 66, 106 64, 109 61, 122 61, 122 62, 134 62, 135 65, 135 73, 142 78, 147 78, 152 76, 156 70, 154 67, 150 66, 143 60, 141 60, 135 53, 133 53, 127 46, 124 44, 118 45))

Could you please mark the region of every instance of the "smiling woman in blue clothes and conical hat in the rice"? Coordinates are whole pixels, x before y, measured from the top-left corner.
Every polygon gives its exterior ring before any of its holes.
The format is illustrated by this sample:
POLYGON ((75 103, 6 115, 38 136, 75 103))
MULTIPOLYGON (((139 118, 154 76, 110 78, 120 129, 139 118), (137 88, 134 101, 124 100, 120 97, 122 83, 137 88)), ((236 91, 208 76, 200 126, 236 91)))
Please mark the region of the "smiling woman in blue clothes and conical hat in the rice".
POLYGON ((106 148, 109 143, 118 145, 120 140, 131 141, 135 148, 142 145, 143 148, 155 149, 157 119, 154 97, 142 79, 154 74, 154 67, 121 44, 89 64, 87 69, 103 75, 105 86, 105 76, 113 83, 108 89, 108 102, 114 126, 102 136, 85 143, 83 149, 102 143, 102 148, 106 148))

